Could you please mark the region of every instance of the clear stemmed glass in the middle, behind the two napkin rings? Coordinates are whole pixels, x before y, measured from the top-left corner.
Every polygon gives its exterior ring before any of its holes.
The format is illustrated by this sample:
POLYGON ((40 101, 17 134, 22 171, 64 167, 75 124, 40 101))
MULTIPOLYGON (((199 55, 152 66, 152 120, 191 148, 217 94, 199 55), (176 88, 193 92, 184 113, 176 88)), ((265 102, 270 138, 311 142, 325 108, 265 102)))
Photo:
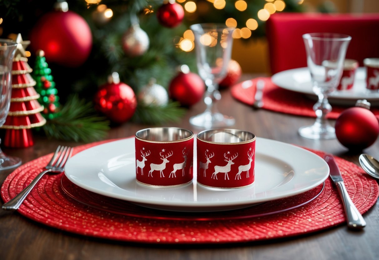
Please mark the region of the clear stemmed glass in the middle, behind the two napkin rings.
POLYGON ((205 81, 207 91, 204 94, 205 111, 189 119, 198 127, 226 127, 233 125, 233 117, 219 113, 214 106, 221 99, 218 83, 225 77, 232 52, 234 28, 221 23, 200 23, 191 25, 195 36, 197 69, 205 81))

